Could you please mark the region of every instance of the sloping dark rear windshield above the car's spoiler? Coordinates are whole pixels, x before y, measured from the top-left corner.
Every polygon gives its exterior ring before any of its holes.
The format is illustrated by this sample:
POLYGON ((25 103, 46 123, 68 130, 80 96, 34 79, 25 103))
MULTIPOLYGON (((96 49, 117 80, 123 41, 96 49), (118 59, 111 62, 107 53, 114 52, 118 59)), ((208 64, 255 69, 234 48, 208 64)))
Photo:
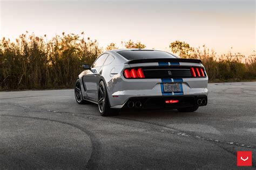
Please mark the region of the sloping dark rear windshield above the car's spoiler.
POLYGON ((155 59, 155 58, 177 58, 170 53, 164 51, 153 51, 153 50, 129 50, 129 51, 118 51, 119 55, 123 56, 127 60, 134 59, 155 59))

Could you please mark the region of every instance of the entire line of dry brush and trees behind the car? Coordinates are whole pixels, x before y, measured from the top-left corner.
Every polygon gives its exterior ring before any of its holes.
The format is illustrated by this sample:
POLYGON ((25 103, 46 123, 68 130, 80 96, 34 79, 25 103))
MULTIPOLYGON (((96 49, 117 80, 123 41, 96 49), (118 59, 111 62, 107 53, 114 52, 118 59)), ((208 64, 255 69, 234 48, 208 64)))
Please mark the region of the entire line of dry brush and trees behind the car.
MULTIPOLYGON (((146 47, 141 42, 121 42, 125 48, 146 47)), ((109 44, 105 50, 117 49, 109 44)), ((172 42, 170 49, 182 58, 201 59, 206 67, 210 81, 240 81, 256 79, 256 60, 254 56, 242 61, 228 55, 218 57, 213 50, 194 48, 185 42, 172 42)), ((0 90, 15 89, 55 89, 73 87, 78 74, 83 71, 82 64, 92 64, 104 51, 97 40, 70 33, 56 35, 48 39, 46 35, 37 37, 28 32, 19 36, 15 42, 0 40, 0 90)), ((239 56, 239 55, 238 55, 239 56)))

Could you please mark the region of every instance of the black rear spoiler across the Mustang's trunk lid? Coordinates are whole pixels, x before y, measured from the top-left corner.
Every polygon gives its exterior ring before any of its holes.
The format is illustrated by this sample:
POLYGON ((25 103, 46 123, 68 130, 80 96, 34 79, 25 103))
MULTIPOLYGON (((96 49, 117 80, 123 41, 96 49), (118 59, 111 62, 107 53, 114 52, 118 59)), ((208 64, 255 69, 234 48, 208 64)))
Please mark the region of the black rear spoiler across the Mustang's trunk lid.
POLYGON ((187 59, 187 58, 152 58, 152 59, 134 59, 129 60, 125 64, 137 63, 158 63, 158 62, 180 62, 180 63, 202 63, 200 59, 187 59))

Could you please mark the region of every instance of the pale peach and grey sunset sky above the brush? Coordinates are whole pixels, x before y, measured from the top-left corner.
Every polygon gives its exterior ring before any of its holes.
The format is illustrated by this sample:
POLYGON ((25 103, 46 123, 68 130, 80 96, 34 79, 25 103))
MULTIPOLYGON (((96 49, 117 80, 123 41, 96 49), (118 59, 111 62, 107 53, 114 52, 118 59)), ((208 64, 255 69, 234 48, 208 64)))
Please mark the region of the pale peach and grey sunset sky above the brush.
POLYGON ((3 1, 0 37, 14 40, 25 31, 51 38, 81 33, 106 47, 132 39, 147 49, 170 51, 175 40, 204 44, 219 55, 256 54, 255 1, 3 1))

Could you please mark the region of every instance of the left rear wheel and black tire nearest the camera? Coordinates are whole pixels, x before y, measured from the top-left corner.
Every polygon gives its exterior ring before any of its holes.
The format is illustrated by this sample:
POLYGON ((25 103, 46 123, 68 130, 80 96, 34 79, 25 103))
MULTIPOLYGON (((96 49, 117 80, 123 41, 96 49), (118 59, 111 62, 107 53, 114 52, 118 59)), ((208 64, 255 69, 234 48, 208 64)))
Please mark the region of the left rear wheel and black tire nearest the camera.
POLYGON ((98 108, 99 113, 102 116, 119 114, 119 110, 110 108, 109 98, 107 97, 107 91, 104 81, 100 81, 98 86, 98 108))

